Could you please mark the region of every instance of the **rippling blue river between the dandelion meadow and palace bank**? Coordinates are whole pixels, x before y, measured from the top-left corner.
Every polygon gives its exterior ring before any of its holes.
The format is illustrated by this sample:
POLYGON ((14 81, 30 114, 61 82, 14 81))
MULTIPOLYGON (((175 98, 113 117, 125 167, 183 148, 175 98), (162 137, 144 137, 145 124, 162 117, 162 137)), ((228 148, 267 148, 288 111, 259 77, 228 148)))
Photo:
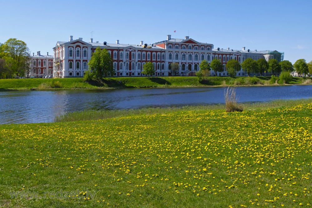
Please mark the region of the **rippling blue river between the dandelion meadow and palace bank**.
MULTIPOLYGON (((69 112, 224 103, 225 87, 0 92, 0 124, 53 122, 69 112)), ((238 87, 239 102, 312 97, 312 85, 238 87)))

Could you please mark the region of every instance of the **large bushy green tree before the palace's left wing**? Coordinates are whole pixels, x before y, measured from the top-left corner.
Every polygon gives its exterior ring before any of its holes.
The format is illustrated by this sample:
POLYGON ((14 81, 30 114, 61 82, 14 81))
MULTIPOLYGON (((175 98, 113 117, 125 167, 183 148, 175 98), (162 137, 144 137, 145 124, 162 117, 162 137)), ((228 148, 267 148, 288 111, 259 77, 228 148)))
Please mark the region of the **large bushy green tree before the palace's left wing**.
POLYGON ((113 60, 106 49, 101 50, 100 47, 95 49, 88 65, 92 69, 92 75, 95 78, 112 76, 115 73, 113 60))

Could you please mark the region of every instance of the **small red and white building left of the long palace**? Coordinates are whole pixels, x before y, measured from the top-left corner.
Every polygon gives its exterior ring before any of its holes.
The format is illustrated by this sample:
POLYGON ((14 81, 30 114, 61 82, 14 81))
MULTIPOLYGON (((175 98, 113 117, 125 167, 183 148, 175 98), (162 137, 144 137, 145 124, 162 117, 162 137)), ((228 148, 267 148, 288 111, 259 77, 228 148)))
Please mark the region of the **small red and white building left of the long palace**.
POLYGON ((49 52, 46 55, 41 55, 40 51, 37 52, 37 55, 33 53, 30 65, 30 77, 53 75, 53 56, 49 55, 49 52))

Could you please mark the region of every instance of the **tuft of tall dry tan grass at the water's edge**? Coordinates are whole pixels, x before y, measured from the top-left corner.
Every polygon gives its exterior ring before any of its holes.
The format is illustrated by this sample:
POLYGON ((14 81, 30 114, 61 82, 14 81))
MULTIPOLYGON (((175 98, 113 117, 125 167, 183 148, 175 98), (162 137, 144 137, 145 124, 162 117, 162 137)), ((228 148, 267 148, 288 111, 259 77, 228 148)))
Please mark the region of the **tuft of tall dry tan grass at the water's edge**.
POLYGON ((238 104, 236 87, 228 87, 226 90, 224 89, 224 99, 226 112, 243 111, 243 106, 238 104))

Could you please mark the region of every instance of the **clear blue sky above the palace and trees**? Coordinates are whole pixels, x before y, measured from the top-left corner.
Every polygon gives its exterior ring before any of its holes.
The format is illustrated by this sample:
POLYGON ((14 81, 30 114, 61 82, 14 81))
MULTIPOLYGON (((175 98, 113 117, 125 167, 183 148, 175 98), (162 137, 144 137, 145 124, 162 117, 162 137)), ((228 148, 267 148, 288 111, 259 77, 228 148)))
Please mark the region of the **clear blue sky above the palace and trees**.
POLYGON ((0 0, 0 42, 25 41, 37 54, 79 37, 151 44, 189 36, 214 48, 277 50, 284 60, 312 60, 311 0, 25 1, 0 0), (176 32, 173 32, 173 31, 176 32))

